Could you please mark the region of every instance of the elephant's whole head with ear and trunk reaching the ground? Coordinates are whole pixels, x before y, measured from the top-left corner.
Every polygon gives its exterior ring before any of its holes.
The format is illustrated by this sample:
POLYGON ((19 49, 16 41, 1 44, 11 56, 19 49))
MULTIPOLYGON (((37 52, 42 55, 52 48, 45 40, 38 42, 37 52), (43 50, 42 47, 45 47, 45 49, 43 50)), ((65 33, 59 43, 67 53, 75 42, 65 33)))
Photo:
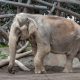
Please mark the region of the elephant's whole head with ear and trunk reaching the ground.
POLYGON ((37 27, 32 19, 24 18, 21 16, 16 16, 11 25, 9 34, 9 51, 10 51, 10 61, 8 66, 8 71, 13 73, 13 66, 15 63, 16 47, 19 40, 29 39, 31 34, 37 31, 37 27))

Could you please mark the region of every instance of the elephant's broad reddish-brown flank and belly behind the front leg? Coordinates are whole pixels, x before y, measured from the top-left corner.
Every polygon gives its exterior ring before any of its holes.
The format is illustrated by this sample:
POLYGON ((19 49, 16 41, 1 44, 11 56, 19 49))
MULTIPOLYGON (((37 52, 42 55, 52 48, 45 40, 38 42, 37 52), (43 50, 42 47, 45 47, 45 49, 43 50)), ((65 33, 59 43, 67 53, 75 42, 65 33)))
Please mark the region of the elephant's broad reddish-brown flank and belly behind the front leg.
MULTIPOLYGON (((77 37, 76 23, 65 18, 49 19, 51 27, 51 46, 54 51, 65 52, 77 37)), ((49 21, 48 21, 49 22, 49 21)))

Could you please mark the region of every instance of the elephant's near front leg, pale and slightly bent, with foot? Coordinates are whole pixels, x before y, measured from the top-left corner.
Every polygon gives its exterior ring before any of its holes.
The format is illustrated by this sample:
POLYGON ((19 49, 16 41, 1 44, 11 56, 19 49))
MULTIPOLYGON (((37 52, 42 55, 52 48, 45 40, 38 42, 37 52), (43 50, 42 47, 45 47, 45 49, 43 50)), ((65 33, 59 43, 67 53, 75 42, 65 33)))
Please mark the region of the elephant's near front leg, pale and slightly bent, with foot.
POLYGON ((37 53, 34 58, 34 66, 35 66, 35 73, 46 73, 45 67, 43 65, 44 57, 49 53, 50 48, 42 47, 41 49, 37 50, 37 53))

